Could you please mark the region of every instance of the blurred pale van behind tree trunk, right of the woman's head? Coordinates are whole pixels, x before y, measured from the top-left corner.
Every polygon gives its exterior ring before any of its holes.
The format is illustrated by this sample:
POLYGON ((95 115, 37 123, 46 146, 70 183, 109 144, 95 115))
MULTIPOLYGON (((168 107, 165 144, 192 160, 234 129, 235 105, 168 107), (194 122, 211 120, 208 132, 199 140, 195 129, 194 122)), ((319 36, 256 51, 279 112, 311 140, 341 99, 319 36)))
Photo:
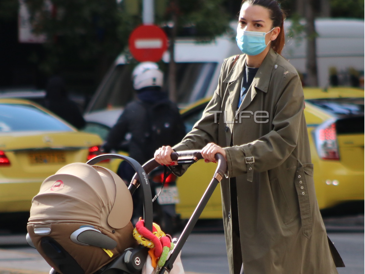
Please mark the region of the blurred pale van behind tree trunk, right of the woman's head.
MULTIPOLYGON (((304 23, 304 22, 302 22, 304 23)), ((288 30, 291 22, 285 22, 288 30)), ((319 87, 327 87, 329 69, 334 67, 340 76, 353 68, 364 73, 364 20, 357 19, 316 19, 317 67, 319 87)), ((306 75, 307 41, 287 39, 282 55, 297 69, 306 75)))

